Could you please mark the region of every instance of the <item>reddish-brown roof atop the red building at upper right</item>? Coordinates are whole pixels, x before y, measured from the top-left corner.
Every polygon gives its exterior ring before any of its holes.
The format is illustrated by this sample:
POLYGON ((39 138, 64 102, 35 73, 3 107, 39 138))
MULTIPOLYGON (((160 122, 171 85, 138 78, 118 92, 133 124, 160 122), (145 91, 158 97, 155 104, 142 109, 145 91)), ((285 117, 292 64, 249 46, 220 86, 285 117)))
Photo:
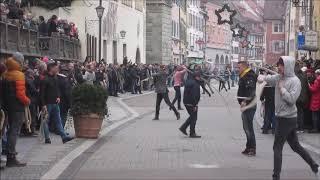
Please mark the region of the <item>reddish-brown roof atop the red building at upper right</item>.
POLYGON ((266 0, 264 6, 264 20, 281 20, 286 13, 286 0, 266 0))

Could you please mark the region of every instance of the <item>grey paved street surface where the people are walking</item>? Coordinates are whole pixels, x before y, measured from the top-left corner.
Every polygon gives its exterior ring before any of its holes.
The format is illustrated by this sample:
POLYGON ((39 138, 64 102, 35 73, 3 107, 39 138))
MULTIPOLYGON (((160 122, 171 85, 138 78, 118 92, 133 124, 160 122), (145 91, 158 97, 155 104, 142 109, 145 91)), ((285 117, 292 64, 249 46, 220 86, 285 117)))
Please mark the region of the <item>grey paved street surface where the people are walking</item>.
MULTIPOLYGON (((144 115, 102 137, 60 179, 271 179, 273 136, 260 134, 256 126, 257 156, 241 155, 245 136, 234 91, 224 93, 225 101, 217 94, 202 98, 197 123, 201 139, 189 139, 178 131, 187 118, 185 111, 177 121, 163 106, 160 121, 152 121, 154 95, 126 100, 144 115)), ((315 179, 287 145, 283 158, 283 179, 315 179)))

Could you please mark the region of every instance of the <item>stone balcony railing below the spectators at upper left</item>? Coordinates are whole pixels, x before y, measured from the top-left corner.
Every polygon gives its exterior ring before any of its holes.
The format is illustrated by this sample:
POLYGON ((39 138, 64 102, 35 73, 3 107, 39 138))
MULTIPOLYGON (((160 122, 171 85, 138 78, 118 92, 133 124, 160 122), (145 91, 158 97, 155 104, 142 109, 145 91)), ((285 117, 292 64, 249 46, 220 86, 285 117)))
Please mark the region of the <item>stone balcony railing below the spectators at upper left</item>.
POLYGON ((40 37, 35 30, 24 29, 0 21, 0 53, 21 52, 26 57, 49 56, 55 60, 79 61, 81 46, 78 39, 52 33, 51 37, 40 37))

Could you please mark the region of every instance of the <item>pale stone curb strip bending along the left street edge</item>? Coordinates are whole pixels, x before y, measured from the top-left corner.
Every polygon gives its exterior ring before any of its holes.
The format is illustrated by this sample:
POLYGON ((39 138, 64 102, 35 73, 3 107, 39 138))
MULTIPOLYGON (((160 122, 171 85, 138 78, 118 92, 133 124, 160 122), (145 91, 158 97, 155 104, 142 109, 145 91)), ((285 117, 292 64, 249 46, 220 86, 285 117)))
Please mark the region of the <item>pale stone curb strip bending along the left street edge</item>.
MULTIPOLYGON (((133 96, 137 97, 137 96, 133 96)), ((131 97, 127 97, 131 98, 131 97)), ((106 136, 109 132, 112 130, 120 127, 123 124, 128 123, 129 121, 132 121, 139 117, 139 114, 135 112, 132 108, 130 108, 128 105, 126 105, 123 100, 127 98, 120 98, 117 100, 117 102, 120 104, 120 106, 130 112, 130 115, 128 118, 123 119, 121 121, 115 122, 114 124, 111 124, 110 126, 105 127, 100 132, 100 137, 106 136)), ((58 179, 59 176, 64 172, 64 170, 72 163, 73 160, 75 160, 77 157, 79 157, 83 152, 88 150, 90 147, 92 147, 98 139, 88 139, 85 140, 79 147, 71 151, 69 154, 67 154, 63 159, 58 161, 53 167, 51 167, 41 178, 40 180, 51 180, 51 179, 58 179)))

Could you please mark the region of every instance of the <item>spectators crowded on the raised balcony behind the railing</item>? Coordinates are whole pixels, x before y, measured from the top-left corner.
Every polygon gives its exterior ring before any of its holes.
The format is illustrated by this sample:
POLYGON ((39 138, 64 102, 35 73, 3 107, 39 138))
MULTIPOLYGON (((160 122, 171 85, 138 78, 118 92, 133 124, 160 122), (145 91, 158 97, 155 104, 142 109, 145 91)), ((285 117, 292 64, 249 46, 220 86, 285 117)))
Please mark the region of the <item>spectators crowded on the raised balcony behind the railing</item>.
POLYGON ((30 11, 21 7, 21 0, 0 3, 0 20, 16 24, 24 29, 32 29, 39 32, 40 36, 51 36, 59 33, 71 38, 78 38, 76 24, 65 19, 59 19, 52 15, 48 21, 43 16, 35 18, 30 11))

